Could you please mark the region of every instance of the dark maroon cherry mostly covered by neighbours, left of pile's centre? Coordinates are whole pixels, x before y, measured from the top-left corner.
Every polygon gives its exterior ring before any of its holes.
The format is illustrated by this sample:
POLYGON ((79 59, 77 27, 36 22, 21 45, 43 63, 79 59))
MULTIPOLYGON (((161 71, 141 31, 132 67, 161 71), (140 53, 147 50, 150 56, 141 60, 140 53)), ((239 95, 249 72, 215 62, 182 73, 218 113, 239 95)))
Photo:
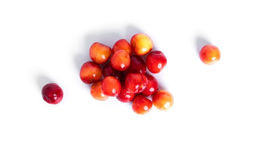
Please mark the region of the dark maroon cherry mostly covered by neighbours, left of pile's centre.
POLYGON ((124 72, 120 72, 116 69, 113 69, 110 65, 110 62, 108 62, 102 69, 102 75, 103 77, 107 76, 115 76, 118 80, 123 80, 124 72))

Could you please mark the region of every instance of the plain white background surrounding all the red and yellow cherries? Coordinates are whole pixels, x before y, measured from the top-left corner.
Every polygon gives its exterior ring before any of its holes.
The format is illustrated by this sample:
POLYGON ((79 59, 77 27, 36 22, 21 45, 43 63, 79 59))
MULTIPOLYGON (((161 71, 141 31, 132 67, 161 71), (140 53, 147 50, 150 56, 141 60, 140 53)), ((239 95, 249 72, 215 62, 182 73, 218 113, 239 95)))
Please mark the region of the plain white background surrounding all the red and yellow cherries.
POLYGON ((256 8, 241 0, 1 0, 0 142, 256 142, 256 8), (137 115, 131 103, 94 100, 79 78, 94 42, 144 32, 167 65, 154 74, 173 94, 168 111, 137 115), (221 52, 216 65, 203 45, 221 52), (41 88, 56 82, 60 104, 41 88))

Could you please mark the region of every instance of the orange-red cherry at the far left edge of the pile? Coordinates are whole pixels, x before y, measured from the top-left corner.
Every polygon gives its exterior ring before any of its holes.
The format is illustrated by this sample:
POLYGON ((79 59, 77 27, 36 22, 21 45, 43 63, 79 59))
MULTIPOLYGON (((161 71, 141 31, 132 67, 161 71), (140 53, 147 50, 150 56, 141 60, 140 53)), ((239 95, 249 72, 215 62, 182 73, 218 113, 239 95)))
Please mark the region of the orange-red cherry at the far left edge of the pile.
POLYGON ((80 79, 86 83, 91 84, 101 79, 101 67, 91 61, 84 63, 80 69, 80 79))

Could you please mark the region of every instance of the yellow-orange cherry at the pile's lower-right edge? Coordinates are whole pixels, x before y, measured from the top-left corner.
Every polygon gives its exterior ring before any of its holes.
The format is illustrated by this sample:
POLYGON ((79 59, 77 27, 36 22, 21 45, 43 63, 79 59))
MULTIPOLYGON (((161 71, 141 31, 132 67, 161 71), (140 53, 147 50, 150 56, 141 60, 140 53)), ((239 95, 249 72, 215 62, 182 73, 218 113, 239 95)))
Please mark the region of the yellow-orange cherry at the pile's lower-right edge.
POLYGON ((157 109, 166 111, 173 106, 173 95, 166 90, 160 90, 153 95, 152 101, 157 109))

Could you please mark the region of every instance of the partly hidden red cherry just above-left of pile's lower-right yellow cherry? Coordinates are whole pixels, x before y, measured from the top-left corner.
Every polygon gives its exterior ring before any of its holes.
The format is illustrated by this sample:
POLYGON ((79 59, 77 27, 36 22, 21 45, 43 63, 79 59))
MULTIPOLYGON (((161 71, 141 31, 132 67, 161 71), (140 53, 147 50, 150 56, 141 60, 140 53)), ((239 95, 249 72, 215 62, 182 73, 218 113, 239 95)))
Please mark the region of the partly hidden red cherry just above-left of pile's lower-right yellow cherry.
POLYGON ((159 89, 157 79, 149 74, 147 74, 146 77, 148 79, 148 86, 141 92, 141 94, 144 96, 154 95, 159 89))

